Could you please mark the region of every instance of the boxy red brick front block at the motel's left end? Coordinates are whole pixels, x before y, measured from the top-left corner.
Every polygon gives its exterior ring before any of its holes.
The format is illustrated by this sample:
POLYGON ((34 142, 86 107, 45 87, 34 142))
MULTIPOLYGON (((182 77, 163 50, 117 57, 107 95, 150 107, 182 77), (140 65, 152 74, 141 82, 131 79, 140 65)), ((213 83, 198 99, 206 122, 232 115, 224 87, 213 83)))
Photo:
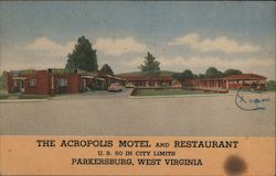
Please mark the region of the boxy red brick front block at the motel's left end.
POLYGON ((18 70, 8 74, 8 91, 29 95, 76 94, 79 81, 75 70, 18 70))

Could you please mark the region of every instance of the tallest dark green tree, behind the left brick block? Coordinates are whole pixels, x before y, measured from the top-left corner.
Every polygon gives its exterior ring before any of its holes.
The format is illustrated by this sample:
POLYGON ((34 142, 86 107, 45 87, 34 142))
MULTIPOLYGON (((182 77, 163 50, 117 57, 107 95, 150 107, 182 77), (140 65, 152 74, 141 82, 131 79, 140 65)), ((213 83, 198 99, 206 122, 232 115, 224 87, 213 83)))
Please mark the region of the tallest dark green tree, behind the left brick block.
POLYGON ((92 48, 91 42, 82 36, 77 40, 77 44, 72 54, 68 54, 65 69, 83 69, 93 72, 98 69, 96 50, 92 48))

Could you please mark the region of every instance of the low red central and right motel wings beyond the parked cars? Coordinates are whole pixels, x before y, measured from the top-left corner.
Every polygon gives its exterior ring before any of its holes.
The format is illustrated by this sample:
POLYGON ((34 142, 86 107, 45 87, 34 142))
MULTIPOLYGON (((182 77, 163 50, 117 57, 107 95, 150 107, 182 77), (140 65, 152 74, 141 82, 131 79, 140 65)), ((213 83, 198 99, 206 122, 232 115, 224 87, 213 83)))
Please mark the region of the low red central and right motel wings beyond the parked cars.
MULTIPOLYGON (((181 87, 171 76, 160 75, 120 75, 127 82, 132 82, 135 86, 160 87, 168 85, 171 87, 181 87)), ((185 87, 202 87, 202 88, 223 88, 223 89, 265 89, 266 77, 256 74, 230 75, 222 78, 202 78, 187 79, 183 81, 185 87)))

